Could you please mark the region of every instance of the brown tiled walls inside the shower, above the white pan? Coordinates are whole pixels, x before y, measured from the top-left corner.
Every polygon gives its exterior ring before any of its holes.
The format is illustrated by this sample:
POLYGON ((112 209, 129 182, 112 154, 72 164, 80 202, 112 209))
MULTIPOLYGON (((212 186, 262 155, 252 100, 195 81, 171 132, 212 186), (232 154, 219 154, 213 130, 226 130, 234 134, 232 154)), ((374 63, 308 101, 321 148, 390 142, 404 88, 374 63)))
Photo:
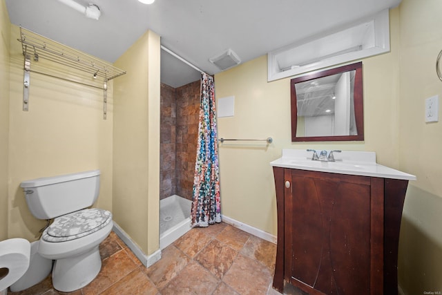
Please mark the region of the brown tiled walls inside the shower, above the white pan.
POLYGON ((161 85, 160 199, 177 194, 192 200, 199 111, 199 80, 161 85))

